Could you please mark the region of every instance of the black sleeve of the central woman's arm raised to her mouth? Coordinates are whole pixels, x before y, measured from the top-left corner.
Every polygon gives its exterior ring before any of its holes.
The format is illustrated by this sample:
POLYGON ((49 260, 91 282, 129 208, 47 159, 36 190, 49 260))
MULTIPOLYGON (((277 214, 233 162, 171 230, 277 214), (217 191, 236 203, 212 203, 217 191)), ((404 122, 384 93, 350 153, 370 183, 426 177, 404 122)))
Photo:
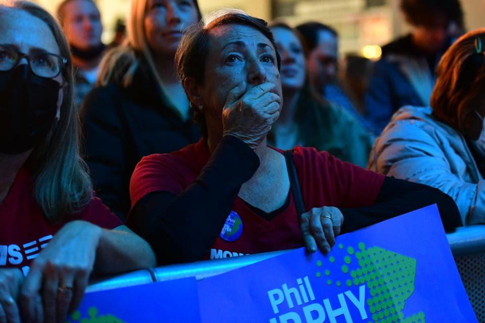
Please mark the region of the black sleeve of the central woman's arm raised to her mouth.
POLYGON ((219 235, 243 183, 259 167, 249 146, 223 138, 183 192, 153 192, 136 203, 128 226, 152 245, 159 263, 201 259, 219 235))

